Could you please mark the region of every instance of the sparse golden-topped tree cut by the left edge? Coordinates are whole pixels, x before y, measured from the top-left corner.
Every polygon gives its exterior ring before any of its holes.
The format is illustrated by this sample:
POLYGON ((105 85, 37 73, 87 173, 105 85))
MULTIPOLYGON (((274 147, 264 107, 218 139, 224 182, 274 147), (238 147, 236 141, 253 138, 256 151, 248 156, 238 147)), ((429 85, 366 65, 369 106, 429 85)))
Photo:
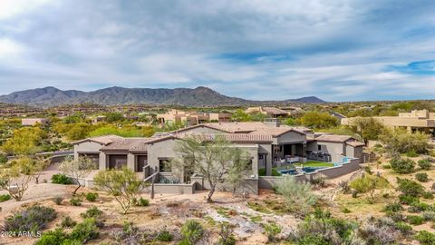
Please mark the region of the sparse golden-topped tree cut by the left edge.
POLYGON ((0 187, 15 201, 21 201, 34 178, 34 161, 29 157, 17 159, 10 168, 0 171, 0 187))

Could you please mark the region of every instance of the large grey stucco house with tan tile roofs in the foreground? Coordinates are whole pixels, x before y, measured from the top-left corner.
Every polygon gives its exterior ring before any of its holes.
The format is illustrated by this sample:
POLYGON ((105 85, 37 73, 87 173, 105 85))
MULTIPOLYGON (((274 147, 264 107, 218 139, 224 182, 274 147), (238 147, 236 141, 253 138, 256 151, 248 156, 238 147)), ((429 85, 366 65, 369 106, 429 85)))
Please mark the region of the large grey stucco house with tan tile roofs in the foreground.
POLYGON ((185 171, 182 176, 175 176, 169 162, 180 158, 174 147, 190 135, 198 135, 204 141, 212 141, 220 135, 232 142, 234 147, 246 150, 252 162, 247 171, 246 183, 252 192, 258 190, 260 169, 265 169, 266 176, 271 176, 272 168, 287 162, 307 162, 314 152, 316 160, 341 164, 347 159, 353 159, 358 164, 359 160, 355 158, 361 158, 364 145, 350 136, 314 134, 304 127, 280 125, 275 119, 266 122, 203 123, 152 138, 121 138, 112 135, 90 138, 73 142, 74 156, 92 157, 99 162, 100 170, 127 166, 143 172, 144 179, 158 174, 160 181, 179 178, 182 182, 189 182, 198 178, 194 172, 185 171), (330 158, 317 158, 328 154, 330 158))

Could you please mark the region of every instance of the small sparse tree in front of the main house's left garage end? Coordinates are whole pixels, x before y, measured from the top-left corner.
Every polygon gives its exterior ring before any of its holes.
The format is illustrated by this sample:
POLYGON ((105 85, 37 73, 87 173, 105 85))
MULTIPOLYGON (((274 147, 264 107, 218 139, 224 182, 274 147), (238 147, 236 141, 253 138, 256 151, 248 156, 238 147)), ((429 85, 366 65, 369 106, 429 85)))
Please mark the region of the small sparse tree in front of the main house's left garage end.
POLYGON ((91 158, 79 157, 78 160, 74 160, 69 157, 62 162, 59 170, 65 175, 72 178, 77 183, 77 188, 73 191, 73 196, 82 187, 80 180, 88 176, 92 170, 95 170, 97 164, 93 162, 91 158))

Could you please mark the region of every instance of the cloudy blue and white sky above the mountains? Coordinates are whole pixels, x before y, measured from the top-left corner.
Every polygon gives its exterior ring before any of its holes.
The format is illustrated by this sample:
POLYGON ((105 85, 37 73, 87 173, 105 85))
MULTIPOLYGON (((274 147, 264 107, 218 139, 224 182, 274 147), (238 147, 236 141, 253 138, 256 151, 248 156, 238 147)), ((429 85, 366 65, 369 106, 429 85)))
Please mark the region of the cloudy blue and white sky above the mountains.
POLYGON ((208 86, 435 99, 433 0, 0 0, 0 94, 208 86))

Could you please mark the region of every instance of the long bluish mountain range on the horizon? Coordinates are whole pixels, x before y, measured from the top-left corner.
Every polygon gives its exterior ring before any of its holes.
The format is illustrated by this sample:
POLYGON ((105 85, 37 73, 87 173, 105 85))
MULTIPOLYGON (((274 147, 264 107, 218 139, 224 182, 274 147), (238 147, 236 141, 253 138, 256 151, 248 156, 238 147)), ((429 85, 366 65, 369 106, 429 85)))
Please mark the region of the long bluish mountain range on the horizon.
POLYGON ((200 86, 195 89, 109 87, 92 92, 77 90, 63 91, 55 87, 45 87, 2 95, 0 96, 0 103, 27 104, 43 107, 78 103, 96 103, 102 105, 146 103, 156 105, 218 106, 274 103, 324 103, 324 101, 314 96, 285 101, 251 101, 237 97, 229 97, 213 91, 208 87, 200 86))

